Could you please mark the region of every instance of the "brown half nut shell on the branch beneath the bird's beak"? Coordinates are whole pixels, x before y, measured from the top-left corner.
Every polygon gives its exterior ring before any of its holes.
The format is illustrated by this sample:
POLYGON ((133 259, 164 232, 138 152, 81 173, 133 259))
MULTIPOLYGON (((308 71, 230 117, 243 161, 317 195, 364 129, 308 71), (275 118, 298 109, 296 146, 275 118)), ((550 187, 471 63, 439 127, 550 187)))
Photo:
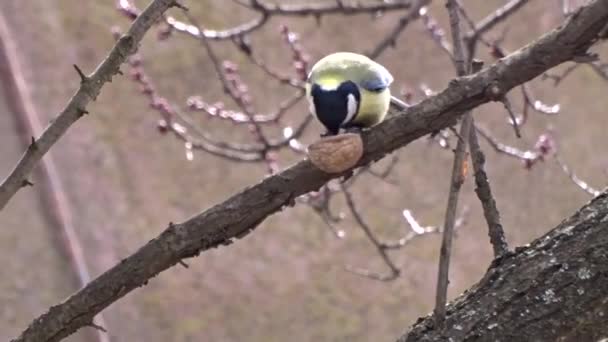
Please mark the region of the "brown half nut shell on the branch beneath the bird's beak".
POLYGON ((357 165, 363 156, 359 134, 346 133, 322 138, 308 146, 308 158, 320 170, 341 173, 357 165))

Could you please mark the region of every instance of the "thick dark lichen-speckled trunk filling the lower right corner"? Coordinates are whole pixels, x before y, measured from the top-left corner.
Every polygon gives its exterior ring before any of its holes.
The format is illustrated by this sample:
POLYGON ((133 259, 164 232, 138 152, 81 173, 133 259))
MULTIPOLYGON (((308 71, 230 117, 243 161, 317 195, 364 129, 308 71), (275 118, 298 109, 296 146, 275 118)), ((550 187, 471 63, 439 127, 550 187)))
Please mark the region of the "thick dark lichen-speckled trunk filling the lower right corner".
POLYGON ((598 341, 608 337, 608 191, 528 246, 496 259, 481 281, 399 341, 598 341))

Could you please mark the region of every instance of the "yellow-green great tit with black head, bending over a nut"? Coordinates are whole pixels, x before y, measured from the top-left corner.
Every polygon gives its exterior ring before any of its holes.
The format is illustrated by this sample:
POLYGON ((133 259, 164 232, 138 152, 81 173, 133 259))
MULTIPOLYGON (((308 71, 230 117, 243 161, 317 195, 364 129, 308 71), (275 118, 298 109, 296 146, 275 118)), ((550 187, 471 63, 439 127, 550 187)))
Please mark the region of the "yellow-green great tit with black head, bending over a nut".
POLYGON ((393 76, 366 56, 336 52, 312 67, 306 82, 309 109, 336 135, 340 128, 361 129, 384 120, 391 102, 393 76))

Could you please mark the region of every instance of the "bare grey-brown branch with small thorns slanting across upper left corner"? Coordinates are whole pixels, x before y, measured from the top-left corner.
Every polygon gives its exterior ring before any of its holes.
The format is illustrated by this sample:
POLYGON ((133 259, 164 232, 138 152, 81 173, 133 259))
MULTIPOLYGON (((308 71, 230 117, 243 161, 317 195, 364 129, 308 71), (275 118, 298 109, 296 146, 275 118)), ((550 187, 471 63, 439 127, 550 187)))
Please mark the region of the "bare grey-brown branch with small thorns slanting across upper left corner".
POLYGON ((153 1, 142 12, 142 15, 133 22, 129 32, 116 42, 108 56, 90 76, 84 75, 75 66, 81 79, 80 87, 42 135, 38 139, 32 140, 31 145, 21 156, 13 171, 0 184, 0 210, 25 184, 27 176, 42 159, 42 156, 65 134, 74 122, 86 113, 87 105, 97 98, 103 85, 112 81, 112 77, 120 72, 120 65, 126 61, 128 56, 135 53, 139 42, 148 29, 175 3, 175 0, 153 1))

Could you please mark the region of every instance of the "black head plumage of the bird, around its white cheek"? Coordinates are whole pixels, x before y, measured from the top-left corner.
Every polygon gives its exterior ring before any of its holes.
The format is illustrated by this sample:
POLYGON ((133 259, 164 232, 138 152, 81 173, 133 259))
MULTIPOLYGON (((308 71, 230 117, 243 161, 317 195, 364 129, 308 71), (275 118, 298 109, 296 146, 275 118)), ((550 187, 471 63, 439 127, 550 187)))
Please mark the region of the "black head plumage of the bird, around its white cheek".
MULTIPOLYGON (((352 81, 340 84, 335 90, 324 90, 318 84, 313 84, 310 92, 317 118, 331 134, 338 134, 340 127, 348 122, 344 122, 348 116, 348 96, 353 95, 356 100, 357 109, 361 102, 359 88, 352 81)), ((351 118, 351 120, 354 116, 351 118)))

